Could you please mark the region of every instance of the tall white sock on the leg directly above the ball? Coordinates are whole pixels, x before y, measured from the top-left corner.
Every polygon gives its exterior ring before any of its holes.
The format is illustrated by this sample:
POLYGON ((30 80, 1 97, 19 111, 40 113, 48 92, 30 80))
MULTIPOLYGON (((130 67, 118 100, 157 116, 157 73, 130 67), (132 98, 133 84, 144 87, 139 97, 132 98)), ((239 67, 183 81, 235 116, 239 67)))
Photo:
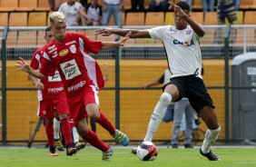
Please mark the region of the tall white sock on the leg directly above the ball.
POLYGON ((162 122, 162 118, 166 112, 167 106, 172 102, 172 95, 169 93, 162 93, 159 102, 156 104, 150 123, 148 126, 147 134, 143 141, 152 142, 153 134, 159 127, 159 124, 162 122))

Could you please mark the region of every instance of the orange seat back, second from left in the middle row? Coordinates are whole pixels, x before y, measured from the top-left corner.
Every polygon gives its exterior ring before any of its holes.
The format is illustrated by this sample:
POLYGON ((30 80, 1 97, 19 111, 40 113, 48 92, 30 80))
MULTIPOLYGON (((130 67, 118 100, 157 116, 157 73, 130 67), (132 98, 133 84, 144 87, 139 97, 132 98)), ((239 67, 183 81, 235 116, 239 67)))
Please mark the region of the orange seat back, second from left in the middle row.
POLYGON ((9 16, 9 26, 27 26, 27 12, 11 12, 9 16))

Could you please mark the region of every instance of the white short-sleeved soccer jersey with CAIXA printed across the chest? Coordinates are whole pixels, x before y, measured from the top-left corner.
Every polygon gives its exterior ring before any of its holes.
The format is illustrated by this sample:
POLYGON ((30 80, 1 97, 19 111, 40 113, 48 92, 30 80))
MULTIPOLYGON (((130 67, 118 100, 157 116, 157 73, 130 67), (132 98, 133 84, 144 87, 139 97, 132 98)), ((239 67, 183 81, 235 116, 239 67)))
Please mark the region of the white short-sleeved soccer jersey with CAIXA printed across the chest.
POLYGON ((197 73, 202 78, 202 54, 199 36, 191 26, 177 30, 173 25, 154 27, 148 30, 154 39, 164 45, 172 77, 197 73))

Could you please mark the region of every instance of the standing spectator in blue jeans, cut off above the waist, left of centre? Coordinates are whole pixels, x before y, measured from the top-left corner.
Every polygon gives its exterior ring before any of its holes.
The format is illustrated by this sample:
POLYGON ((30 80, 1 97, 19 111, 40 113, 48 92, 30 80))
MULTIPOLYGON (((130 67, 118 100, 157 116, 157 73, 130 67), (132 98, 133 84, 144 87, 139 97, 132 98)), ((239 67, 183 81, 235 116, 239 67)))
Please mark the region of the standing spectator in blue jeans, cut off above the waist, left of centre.
POLYGON ((124 0, 103 0, 103 25, 109 25, 111 15, 114 24, 118 27, 122 25, 122 11, 124 0))

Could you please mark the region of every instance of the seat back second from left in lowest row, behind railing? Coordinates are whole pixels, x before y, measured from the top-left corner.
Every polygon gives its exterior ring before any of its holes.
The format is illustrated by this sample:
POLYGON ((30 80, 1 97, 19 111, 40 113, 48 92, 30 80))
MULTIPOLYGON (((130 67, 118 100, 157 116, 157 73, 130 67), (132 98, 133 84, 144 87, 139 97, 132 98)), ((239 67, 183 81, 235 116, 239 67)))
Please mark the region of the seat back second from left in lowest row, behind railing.
POLYGON ((18 32, 18 43, 19 46, 29 45, 35 46, 36 45, 36 31, 19 31, 18 32))

